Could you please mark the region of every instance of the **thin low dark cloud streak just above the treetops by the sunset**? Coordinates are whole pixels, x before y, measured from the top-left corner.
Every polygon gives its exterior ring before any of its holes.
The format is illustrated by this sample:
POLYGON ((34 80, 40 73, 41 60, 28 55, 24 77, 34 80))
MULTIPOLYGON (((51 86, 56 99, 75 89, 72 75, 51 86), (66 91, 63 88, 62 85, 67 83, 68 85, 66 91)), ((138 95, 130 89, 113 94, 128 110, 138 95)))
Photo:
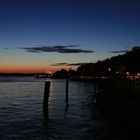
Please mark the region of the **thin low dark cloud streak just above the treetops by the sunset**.
POLYGON ((88 62, 83 62, 83 63, 55 63, 50 66, 80 66, 84 64, 90 64, 88 62))

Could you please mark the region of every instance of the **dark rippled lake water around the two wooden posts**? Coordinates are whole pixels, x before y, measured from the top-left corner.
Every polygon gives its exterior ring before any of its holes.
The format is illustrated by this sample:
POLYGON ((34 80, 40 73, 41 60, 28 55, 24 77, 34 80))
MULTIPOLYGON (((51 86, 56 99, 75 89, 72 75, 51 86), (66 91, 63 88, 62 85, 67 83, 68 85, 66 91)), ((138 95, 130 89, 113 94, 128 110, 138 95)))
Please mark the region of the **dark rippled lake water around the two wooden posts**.
POLYGON ((106 120, 91 102, 91 83, 52 80, 49 120, 43 117, 44 81, 0 77, 0 140, 119 140, 125 133, 106 120))

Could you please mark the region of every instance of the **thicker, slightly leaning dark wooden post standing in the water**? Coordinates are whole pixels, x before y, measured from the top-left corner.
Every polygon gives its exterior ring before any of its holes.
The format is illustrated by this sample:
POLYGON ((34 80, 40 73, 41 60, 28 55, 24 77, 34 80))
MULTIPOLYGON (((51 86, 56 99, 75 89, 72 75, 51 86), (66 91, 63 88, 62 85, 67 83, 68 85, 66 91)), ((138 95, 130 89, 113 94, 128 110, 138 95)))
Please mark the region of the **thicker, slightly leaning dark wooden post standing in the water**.
POLYGON ((50 93, 50 81, 45 82, 44 88, 44 98, 43 98, 43 113, 44 117, 48 118, 48 101, 49 101, 49 93, 50 93))

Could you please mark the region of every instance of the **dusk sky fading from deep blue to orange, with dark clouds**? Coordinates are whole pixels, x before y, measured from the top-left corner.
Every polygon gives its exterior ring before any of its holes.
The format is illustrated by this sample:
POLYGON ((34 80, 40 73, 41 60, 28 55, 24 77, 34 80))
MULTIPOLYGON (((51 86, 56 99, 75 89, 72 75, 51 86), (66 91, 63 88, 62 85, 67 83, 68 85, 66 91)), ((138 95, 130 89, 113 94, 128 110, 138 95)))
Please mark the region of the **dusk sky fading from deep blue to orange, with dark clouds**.
POLYGON ((76 69, 140 46, 139 0, 1 0, 0 73, 76 69))

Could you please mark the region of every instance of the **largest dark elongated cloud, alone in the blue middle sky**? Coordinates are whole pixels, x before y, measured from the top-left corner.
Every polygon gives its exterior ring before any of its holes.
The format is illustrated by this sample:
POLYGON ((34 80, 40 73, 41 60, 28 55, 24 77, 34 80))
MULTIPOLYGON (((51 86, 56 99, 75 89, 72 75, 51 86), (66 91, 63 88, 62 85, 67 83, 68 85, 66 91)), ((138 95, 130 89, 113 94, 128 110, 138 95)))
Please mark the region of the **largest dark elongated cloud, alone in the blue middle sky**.
POLYGON ((41 52, 57 52, 57 53, 92 53, 93 50, 77 49, 77 45, 68 46, 39 46, 39 47, 28 47, 21 48, 27 52, 41 53, 41 52))

